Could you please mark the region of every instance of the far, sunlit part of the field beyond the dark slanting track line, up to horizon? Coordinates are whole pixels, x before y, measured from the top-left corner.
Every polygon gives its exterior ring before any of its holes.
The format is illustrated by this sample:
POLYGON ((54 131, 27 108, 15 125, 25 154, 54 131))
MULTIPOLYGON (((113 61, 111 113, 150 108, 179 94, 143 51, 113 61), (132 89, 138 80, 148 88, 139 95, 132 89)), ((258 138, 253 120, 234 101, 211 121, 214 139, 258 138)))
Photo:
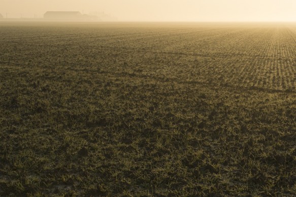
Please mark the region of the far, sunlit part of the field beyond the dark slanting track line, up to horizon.
POLYGON ((287 24, 167 29, 106 25, 2 29, 2 38, 13 40, 2 42, 1 62, 143 70, 155 77, 161 73, 165 78, 267 90, 296 87, 295 29, 287 24), (121 68, 124 63, 128 68, 121 68))

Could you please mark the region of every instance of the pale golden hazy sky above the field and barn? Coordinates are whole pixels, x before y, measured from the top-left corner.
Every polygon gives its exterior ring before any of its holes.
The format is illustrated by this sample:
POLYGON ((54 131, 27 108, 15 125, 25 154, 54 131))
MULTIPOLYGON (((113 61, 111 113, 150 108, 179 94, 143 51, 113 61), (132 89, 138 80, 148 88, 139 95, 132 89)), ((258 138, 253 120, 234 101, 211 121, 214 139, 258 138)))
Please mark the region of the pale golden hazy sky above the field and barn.
POLYGON ((0 0, 8 17, 105 11, 122 21, 296 21, 296 0, 0 0))

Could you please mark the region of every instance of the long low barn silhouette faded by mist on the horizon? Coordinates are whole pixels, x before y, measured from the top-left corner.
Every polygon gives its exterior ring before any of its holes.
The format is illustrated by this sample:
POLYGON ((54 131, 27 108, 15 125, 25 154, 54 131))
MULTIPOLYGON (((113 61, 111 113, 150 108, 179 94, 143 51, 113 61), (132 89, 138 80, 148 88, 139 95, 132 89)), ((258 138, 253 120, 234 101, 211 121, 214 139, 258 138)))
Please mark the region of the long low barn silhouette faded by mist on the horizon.
POLYGON ((97 16, 81 14, 80 12, 56 12, 48 11, 44 14, 46 20, 97 20, 97 16))

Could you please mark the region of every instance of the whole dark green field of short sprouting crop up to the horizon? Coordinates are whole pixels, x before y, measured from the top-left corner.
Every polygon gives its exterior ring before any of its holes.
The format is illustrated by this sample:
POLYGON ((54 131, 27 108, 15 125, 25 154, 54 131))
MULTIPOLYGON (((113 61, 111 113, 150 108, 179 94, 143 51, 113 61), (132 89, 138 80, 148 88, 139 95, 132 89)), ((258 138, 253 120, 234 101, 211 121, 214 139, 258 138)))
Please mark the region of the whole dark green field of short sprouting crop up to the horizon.
POLYGON ((296 195, 296 23, 0 23, 0 196, 296 195))

